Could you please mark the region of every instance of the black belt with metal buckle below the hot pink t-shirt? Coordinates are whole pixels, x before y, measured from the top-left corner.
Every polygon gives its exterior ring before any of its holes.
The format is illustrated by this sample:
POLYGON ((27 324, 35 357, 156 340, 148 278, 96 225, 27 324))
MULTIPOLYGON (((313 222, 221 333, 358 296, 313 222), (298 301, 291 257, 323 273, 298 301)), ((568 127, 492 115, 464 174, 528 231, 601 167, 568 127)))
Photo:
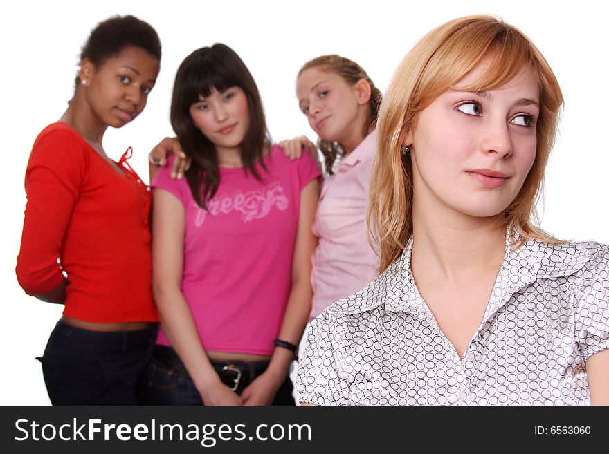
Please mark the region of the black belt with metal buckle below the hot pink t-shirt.
MULTIPOLYGON (((152 356, 157 361, 165 364, 168 368, 174 369, 176 372, 187 375, 190 378, 182 360, 172 347, 154 346, 152 356)), ((211 361, 211 363, 222 383, 236 392, 242 391, 269 367, 269 361, 246 363, 245 361, 230 360, 211 361)))

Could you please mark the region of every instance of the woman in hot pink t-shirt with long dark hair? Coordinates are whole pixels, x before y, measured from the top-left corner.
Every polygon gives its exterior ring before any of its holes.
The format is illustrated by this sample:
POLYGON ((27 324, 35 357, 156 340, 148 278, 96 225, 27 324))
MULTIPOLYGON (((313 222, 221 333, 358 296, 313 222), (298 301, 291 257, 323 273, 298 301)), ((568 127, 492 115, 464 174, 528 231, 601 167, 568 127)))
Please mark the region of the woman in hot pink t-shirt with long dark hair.
POLYGON ((174 180, 170 158, 152 182, 150 401, 293 405, 320 171, 271 144, 253 77, 224 44, 182 62, 171 122, 192 164, 174 180))

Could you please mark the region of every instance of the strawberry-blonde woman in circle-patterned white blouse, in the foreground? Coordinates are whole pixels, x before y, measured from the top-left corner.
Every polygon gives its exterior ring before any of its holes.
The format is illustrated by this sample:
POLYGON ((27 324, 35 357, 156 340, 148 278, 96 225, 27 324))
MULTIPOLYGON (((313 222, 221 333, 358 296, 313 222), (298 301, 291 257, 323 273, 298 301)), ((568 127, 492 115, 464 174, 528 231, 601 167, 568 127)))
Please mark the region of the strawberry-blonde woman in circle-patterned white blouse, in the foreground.
POLYGON ((609 404, 609 247, 532 222, 562 104, 543 55, 496 17, 406 55, 372 168, 381 274, 311 323, 301 402, 609 404))

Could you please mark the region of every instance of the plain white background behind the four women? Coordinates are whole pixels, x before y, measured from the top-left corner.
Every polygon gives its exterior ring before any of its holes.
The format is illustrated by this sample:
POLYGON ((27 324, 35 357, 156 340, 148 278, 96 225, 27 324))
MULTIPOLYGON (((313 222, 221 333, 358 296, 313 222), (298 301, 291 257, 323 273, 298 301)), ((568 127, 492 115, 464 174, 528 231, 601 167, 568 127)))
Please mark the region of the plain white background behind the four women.
MULTIPOLYGON (((73 91, 80 48, 96 23, 133 14, 152 24, 163 44, 161 74, 145 111, 104 146, 147 180, 147 153, 171 135, 169 106, 180 62, 215 42, 231 46, 262 94, 274 140, 306 133, 294 84, 298 69, 338 53, 365 68, 381 91, 401 57, 425 32, 476 13, 502 17, 525 32, 554 69, 565 95, 561 136, 547 171, 542 227, 561 238, 609 243, 607 7, 601 1, 136 0, 15 1, 0 8, 0 124, 4 209, 1 225, 0 404, 49 403, 42 354, 62 307, 24 294, 15 278, 25 206, 24 172, 39 131, 57 120, 73 91)), ((125 276, 126 279, 129 276, 125 276)))

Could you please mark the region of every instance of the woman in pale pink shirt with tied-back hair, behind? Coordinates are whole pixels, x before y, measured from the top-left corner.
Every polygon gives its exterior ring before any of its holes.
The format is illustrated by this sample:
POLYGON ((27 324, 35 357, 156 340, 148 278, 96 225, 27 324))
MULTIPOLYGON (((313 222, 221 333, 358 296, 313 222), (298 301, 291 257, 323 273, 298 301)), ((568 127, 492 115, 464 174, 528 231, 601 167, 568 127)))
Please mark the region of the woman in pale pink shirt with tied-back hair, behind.
MULTIPOLYGON (((379 268, 379 256, 366 236, 365 209, 381 92, 355 62, 323 55, 302 66, 296 94, 319 136, 327 174, 313 223, 319 243, 312 258, 312 320, 372 281, 379 268)), ((302 149, 318 154, 304 135, 280 146, 294 158, 302 149)))

